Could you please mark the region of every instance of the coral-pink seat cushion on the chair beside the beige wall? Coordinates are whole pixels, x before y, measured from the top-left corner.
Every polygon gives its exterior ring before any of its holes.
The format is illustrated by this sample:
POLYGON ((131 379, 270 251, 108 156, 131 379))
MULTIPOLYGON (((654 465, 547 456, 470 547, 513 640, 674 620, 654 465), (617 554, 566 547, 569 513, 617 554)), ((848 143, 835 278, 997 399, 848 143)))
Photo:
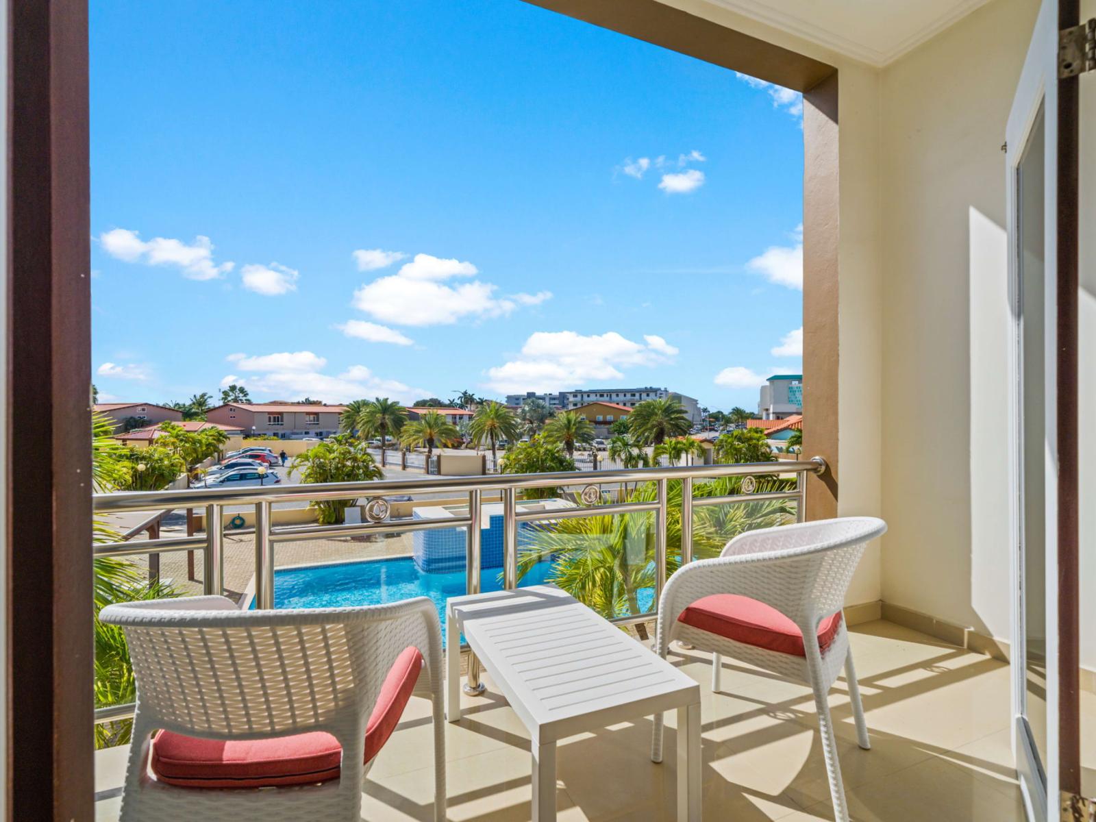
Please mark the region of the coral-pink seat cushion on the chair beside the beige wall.
MULTIPOLYGON (((807 655, 799 627, 776 608, 749 596, 705 596, 685 608, 677 620, 755 648, 794 657, 807 655)), ((819 648, 823 652, 833 642, 840 628, 840 610, 819 624, 819 648)))

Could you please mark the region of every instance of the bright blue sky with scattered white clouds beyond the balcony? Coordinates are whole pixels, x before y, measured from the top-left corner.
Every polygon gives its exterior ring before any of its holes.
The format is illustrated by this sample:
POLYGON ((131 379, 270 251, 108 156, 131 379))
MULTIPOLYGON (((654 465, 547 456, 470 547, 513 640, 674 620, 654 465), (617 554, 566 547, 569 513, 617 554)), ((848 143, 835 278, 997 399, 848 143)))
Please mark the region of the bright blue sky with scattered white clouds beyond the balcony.
POLYGON ((528 5, 93 3, 101 397, 801 367, 798 95, 528 5))

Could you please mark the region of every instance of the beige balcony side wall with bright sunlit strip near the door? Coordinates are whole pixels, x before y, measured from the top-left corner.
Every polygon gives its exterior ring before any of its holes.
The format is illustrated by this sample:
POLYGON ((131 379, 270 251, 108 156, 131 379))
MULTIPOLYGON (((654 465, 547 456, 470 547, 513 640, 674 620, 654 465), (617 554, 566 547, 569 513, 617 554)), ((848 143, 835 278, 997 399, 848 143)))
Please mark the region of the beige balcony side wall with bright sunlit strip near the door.
POLYGON ((994 0, 882 73, 882 597, 1005 639, 1001 145, 1037 11, 994 0))

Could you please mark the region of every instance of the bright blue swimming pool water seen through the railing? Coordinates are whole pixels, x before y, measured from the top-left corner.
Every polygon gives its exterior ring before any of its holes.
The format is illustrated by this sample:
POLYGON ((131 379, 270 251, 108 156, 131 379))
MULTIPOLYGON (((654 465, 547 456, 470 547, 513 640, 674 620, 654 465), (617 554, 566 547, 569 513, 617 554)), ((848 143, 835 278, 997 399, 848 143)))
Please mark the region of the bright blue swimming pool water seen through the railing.
MULTIPOLYGON (((522 578, 520 585, 524 587, 546 582, 551 567, 551 560, 538 562, 522 578)), ((480 591, 501 591, 500 576, 500 569, 484 569, 480 576, 480 591)), ((446 600, 465 593, 464 570, 423 573, 411 557, 287 568, 274 572, 275 608, 339 608, 429 596, 437 607, 443 633, 446 600)), ((654 602, 654 592, 641 589, 638 594, 640 608, 649 610, 654 602)), ((253 602, 251 607, 254 607, 253 602)))

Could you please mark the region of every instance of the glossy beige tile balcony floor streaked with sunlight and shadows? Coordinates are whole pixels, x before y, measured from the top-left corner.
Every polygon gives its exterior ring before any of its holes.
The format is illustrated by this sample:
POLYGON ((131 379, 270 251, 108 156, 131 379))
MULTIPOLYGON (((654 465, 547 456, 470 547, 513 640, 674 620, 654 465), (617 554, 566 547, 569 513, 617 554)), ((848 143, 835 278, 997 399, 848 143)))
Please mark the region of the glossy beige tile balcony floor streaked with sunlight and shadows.
MULTIPOLYGON (((872 749, 856 745, 844 681, 831 692, 849 809, 857 822, 1020 822, 1011 766, 1008 667, 923 633, 875 621, 856 626, 853 650, 872 749)), ((711 694, 710 658, 675 662, 704 692, 704 818, 733 822, 833 819, 809 688, 724 660, 711 694)), ((529 819, 528 733, 491 688, 466 697, 446 737, 448 819, 529 819)), ((365 786, 363 818, 431 819, 430 712, 412 699, 365 786)), ((667 715, 667 726, 674 717, 667 715)), ((673 757, 652 764, 651 722, 640 719, 560 745, 561 822, 674 819, 673 757)), ((673 731, 667 731, 673 750, 673 731)), ((96 819, 117 819, 125 749, 96 754, 96 819)))

